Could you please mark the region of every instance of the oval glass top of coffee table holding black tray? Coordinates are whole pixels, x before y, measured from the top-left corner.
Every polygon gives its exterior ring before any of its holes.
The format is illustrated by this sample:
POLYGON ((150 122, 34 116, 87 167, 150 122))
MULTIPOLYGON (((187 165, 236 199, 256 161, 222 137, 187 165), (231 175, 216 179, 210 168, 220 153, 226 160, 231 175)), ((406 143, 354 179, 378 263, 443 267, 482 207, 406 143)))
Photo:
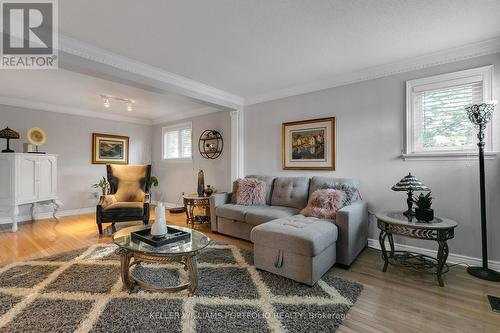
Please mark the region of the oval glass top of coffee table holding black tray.
POLYGON ((199 231, 170 224, 169 227, 188 232, 191 234, 191 238, 189 240, 175 242, 164 246, 152 246, 144 242, 131 239, 130 234, 132 232, 151 228, 151 226, 140 225, 125 228, 116 232, 113 235, 113 242, 119 247, 125 248, 132 252, 165 256, 182 255, 197 252, 205 248, 210 243, 210 238, 199 231))

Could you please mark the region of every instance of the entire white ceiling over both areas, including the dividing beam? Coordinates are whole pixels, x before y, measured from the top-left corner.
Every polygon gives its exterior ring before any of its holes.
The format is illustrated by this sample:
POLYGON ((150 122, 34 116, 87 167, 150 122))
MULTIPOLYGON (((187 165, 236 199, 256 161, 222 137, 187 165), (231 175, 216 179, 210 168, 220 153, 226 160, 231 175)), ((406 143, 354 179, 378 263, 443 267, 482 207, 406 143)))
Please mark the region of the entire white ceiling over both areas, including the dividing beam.
POLYGON ((500 51, 500 0, 58 4, 63 69, 1 71, 0 104, 150 124, 500 51))

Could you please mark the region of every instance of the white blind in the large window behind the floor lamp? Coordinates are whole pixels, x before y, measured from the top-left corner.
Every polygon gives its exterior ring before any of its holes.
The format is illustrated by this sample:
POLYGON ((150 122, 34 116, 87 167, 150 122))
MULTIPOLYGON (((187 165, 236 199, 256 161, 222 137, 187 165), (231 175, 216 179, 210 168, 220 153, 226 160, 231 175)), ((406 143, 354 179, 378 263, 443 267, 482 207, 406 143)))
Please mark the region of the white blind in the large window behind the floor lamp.
POLYGON ((482 99, 482 81, 416 92, 414 151, 474 149, 474 128, 464 106, 482 99))

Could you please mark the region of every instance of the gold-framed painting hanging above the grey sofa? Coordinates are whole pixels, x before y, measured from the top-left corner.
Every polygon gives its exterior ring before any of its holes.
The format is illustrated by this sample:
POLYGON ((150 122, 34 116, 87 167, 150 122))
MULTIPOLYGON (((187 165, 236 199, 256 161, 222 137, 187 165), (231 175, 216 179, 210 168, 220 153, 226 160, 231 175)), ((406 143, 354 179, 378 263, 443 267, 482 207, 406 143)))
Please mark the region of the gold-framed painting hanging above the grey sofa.
POLYGON ((283 123, 284 170, 335 170, 335 117, 283 123))

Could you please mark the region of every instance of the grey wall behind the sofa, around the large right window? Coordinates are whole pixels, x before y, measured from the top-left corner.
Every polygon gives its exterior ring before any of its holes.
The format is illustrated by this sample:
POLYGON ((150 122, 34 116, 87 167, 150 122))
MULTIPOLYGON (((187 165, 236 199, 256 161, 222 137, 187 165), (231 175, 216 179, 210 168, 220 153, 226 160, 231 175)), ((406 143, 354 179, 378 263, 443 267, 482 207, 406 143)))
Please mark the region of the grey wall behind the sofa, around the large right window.
MULTIPOLYGON (((390 188, 411 171, 432 188, 436 213, 459 223, 456 238, 450 242, 451 252, 480 257, 477 161, 405 162, 398 156, 404 148, 405 81, 489 64, 495 65, 494 95, 498 98, 500 54, 494 54, 246 107, 245 172, 357 178, 370 209, 382 211, 404 208, 404 193, 393 192, 390 188), (282 170, 281 123, 329 116, 337 117, 337 170, 282 170)), ((500 131, 499 119, 497 114, 496 131, 500 131)), ((486 162, 486 173, 490 259, 500 260, 498 159, 486 162)), ((370 229, 370 237, 376 239, 375 223, 371 223, 370 229)), ((432 243, 404 238, 397 239, 397 242, 435 247, 432 243)))

